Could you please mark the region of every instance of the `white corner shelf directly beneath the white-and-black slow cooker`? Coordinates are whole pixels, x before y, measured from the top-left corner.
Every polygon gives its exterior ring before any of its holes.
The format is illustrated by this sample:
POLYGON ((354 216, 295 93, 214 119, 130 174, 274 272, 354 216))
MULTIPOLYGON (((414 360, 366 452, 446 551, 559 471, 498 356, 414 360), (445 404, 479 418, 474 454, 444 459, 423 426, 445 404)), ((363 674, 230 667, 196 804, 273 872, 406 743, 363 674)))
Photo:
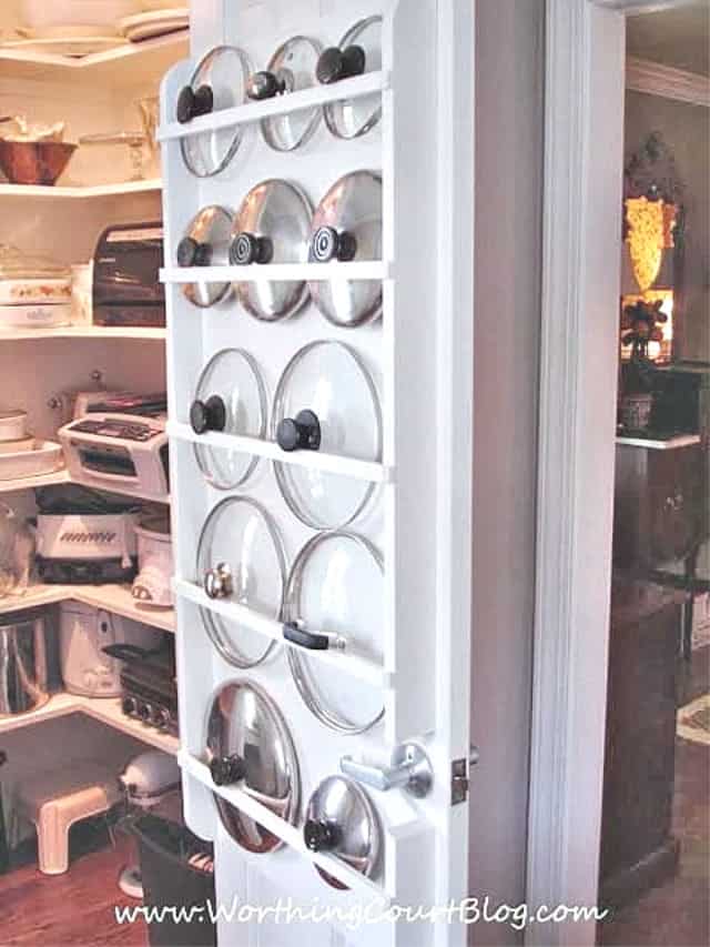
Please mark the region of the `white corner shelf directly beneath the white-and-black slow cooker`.
POLYGON ((23 612, 59 602, 82 602, 95 608, 105 608, 113 615, 143 622, 163 632, 175 632, 175 613, 172 608, 150 608, 131 595, 129 585, 31 585, 24 595, 0 598, 0 615, 23 612))

